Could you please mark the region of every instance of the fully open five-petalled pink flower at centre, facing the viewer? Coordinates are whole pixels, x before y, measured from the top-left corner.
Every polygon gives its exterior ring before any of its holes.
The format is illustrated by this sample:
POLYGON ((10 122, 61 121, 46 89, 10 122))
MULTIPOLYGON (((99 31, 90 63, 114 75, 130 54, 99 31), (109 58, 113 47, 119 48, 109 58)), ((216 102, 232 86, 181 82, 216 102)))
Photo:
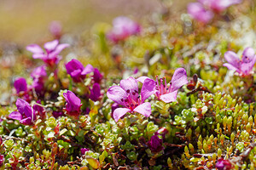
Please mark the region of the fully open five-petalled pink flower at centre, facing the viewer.
POLYGON ((138 112, 143 116, 150 116, 151 105, 149 102, 144 103, 144 100, 148 99, 151 94, 154 94, 154 88, 153 80, 145 80, 140 98, 138 94, 137 80, 133 77, 121 80, 120 86, 109 88, 107 92, 108 98, 119 105, 125 106, 125 108, 117 108, 113 111, 114 121, 118 122, 119 118, 124 116, 127 112, 138 112))

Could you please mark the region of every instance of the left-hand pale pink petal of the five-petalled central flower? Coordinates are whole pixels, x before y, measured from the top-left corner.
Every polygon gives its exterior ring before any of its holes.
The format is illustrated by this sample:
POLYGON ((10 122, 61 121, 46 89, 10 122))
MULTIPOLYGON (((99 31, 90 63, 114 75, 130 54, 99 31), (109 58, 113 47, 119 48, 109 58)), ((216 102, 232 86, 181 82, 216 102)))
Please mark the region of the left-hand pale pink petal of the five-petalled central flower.
POLYGON ((124 105, 124 100, 127 98, 127 94, 123 88, 119 86, 113 86, 108 89, 107 96, 119 105, 124 105))

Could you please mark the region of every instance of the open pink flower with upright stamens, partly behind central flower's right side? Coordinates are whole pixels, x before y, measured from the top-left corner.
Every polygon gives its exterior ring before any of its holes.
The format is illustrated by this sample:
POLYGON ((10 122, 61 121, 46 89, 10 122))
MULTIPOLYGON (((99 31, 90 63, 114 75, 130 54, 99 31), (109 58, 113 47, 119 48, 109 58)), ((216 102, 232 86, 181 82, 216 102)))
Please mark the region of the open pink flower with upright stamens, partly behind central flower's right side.
MULTIPOLYGON (((147 79, 149 78, 139 77, 137 80, 144 83, 147 79)), ((156 87, 154 94, 156 97, 166 103, 173 102, 177 99, 177 89, 188 83, 187 72, 183 68, 176 69, 169 86, 166 83, 166 77, 160 78, 160 83, 158 77, 156 77, 155 83, 156 87)))

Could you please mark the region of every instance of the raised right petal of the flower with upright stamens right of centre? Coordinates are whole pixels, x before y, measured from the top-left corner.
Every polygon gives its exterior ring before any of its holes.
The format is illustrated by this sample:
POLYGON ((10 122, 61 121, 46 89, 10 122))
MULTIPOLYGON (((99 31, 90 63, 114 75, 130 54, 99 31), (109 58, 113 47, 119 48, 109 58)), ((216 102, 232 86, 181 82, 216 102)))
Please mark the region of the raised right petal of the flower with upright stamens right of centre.
POLYGON ((172 76, 172 88, 171 91, 176 91, 181 88, 184 84, 188 83, 187 72, 183 68, 177 68, 172 76))

